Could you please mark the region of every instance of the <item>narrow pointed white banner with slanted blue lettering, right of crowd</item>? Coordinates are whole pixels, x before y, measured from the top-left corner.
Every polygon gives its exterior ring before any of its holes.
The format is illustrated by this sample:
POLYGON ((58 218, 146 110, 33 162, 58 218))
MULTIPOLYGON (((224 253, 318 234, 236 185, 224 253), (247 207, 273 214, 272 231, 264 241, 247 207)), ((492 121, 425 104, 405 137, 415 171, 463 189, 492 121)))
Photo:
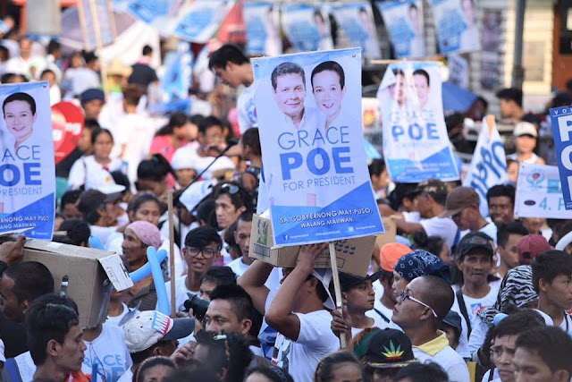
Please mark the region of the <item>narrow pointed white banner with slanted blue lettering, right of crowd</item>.
POLYGON ((487 191, 492 186, 508 181, 507 157, 501 135, 497 130, 496 123, 492 123, 492 126, 489 125, 489 121, 485 117, 479 138, 476 140, 471 166, 465 175, 463 185, 474 189, 479 194, 481 214, 489 216, 489 206, 486 201, 487 191))

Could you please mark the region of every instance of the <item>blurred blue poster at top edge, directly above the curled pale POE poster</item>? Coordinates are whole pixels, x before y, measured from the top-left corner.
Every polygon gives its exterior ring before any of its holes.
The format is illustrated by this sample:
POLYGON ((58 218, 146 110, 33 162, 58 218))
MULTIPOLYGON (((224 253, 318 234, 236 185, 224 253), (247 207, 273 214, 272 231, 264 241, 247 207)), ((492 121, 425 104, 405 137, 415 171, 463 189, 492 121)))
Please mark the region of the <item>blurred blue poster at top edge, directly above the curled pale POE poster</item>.
POLYGON ((397 58, 425 57, 423 0, 376 3, 397 58))

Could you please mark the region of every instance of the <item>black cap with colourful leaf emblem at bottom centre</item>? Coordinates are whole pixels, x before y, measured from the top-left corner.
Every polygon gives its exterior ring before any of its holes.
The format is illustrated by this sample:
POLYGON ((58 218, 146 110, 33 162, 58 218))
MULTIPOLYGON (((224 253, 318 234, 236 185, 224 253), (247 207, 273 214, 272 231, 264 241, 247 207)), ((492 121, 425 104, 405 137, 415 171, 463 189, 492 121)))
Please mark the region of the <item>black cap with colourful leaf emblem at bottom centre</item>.
POLYGON ((396 329, 378 330, 366 335, 354 353, 360 361, 378 369, 405 368, 416 362, 408 336, 396 329), (366 349, 363 343, 366 343, 366 349))

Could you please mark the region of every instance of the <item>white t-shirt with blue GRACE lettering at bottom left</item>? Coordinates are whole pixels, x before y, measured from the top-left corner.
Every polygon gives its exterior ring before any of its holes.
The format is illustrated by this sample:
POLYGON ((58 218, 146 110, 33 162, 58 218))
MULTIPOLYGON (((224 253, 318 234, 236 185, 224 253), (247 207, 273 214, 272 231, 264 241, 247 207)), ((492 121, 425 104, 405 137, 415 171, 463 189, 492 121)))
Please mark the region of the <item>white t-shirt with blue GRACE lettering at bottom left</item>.
POLYGON ((105 323, 101 335, 84 343, 88 346, 81 364, 84 374, 91 374, 92 363, 97 362, 98 371, 105 373, 105 382, 116 382, 133 364, 121 327, 105 323))

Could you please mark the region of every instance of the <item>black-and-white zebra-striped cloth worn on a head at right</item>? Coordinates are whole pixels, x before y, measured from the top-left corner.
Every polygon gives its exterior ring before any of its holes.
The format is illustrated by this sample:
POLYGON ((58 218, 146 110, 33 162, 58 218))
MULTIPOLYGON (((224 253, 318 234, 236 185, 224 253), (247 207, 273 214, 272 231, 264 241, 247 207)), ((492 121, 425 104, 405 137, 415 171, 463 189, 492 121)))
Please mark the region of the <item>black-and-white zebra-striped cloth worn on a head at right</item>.
POLYGON ((478 312, 477 317, 492 327, 494 316, 497 314, 508 314, 510 308, 521 308, 534 300, 538 300, 538 294, 533 288, 533 269, 526 265, 514 267, 502 279, 497 301, 492 307, 478 312))

